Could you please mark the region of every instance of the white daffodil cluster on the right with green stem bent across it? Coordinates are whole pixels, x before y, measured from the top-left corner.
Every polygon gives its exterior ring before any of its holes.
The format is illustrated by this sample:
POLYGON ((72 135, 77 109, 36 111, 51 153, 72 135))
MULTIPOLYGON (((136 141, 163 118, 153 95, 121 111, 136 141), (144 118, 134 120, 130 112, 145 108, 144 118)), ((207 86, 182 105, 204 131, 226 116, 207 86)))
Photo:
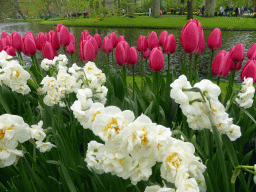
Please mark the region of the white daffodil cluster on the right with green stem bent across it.
POLYGON ((205 102, 200 92, 188 91, 192 87, 185 75, 181 75, 170 86, 171 98, 180 104, 190 128, 209 129, 212 132, 212 126, 216 126, 219 133, 227 134, 231 141, 241 136, 240 127, 233 124, 233 119, 228 117, 224 106, 218 100, 221 92, 219 86, 207 79, 194 85, 194 88, 201 90, 205 102))

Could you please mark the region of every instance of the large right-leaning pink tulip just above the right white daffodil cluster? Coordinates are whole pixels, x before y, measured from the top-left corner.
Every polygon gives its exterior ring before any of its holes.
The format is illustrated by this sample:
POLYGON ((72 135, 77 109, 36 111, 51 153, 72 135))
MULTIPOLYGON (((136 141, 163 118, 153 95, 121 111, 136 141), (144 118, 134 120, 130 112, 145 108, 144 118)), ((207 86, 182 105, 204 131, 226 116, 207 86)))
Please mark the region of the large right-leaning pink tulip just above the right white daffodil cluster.
POLYGON ((225 50, 220 51, 213 60, 212 63, 212 74, 215 77, 222 76, 225 77, 228 75, 230 69, 230 62, 227 62, 227 56, 229 54, 226 53, 225 50))

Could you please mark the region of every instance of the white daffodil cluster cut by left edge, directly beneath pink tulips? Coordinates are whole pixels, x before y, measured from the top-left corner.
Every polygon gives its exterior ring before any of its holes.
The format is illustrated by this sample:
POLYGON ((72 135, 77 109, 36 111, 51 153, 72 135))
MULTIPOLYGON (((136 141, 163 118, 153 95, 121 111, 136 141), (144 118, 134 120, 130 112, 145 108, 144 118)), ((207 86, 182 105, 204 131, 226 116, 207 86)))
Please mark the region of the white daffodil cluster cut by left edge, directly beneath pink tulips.
POLYGON ((29 79, 30 74, 16 60, 12 60, 5 51, 0 53, 0 85, 5 84, 12 91, 24 95, 30 92, 29 79))

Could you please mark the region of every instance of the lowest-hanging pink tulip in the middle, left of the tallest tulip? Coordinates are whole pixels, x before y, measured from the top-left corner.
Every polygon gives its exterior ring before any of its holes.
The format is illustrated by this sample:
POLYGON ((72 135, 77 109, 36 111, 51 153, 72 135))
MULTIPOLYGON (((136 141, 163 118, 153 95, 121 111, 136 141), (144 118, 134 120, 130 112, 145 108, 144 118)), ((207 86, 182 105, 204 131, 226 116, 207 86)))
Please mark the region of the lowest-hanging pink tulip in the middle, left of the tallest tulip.
POLYGON ((155 72, 164 68, 164 56, 159 48, 154 48, 149 57, 149 67, 155 72))

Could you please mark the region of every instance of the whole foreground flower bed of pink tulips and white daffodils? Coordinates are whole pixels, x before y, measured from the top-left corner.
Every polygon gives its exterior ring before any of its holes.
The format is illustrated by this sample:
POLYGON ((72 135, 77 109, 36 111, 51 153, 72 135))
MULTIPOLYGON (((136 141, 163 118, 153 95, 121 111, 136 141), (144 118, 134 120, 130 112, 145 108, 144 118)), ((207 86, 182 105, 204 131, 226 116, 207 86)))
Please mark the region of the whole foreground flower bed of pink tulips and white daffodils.
POLYGON ((243 44, 219 50, 221 30, 215 28, 205 41, 196 19, 183 27, 179 40, 184 55, 177 76, 170 70, 177 42, 167 31, 140 36, 137 47, 130 47, 114 32, 101 37, 84 30, 83 65, 74 62, 75 37, 62 24, 37 37, 3 32, 1 191, 253 191, 255 147, 248 151, 247 146, 256 130, 256 43, 243 65, 243 44), (197 60, 205 44, 211 65, 208 79, 199 81, 197 60), (108 58, 103 69, 99 49, 108 58), (41 63, 37 52, 44 57, 41 63), (31 57, 31 66, 24 55, 31 57), (132 85, 126 82, 127 65, 133 69, 132 85), (135 65, 141 65, 140 85, 135 65), (221 90, 220 77, 227 75, 229 83, 221 90))

